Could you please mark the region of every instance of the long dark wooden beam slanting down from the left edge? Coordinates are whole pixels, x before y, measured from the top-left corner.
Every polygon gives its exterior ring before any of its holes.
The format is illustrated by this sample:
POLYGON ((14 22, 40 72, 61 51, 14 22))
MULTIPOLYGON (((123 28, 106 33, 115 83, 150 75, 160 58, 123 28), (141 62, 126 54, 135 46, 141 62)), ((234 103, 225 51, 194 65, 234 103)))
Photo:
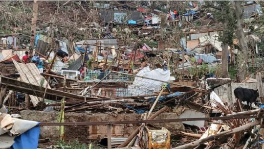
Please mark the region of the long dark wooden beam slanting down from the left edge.
MULTIPOLYGON (((26 93, 29 95, 34 95, 40 98, 43 98, 43 95, 45 93, 45 87, 25 83, 25 82, 18 81, 16 79, 4 77, 4 76, 0 76, 0 84, 1 86, 7 85, 6 90, 18 91, 18 92, 26 93)), ((58 96, 62 98, 65 97, 69 99, 78 99, 82 101, 85 100, 84 96, 75 95, 75 94, 71 94, 71 93, 67 93, 67 92, 63 92, 59 90, 54 90, 54 89, 49 89, 49 88, 46 89, 46 95, 53 95, 53 96, 58 96)), ((96 99, 96 98, 90 98, 90 99, 96 99)))

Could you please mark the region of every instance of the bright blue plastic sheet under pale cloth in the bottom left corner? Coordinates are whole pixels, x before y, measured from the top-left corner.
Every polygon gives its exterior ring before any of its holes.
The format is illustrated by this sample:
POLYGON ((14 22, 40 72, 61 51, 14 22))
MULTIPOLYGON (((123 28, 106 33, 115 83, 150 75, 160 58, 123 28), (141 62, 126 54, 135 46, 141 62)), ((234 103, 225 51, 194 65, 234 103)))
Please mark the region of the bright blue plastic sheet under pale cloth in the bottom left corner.
POLYGON ((37 149, 40 135, 39 124, 17 136, 10 149, 37 149))

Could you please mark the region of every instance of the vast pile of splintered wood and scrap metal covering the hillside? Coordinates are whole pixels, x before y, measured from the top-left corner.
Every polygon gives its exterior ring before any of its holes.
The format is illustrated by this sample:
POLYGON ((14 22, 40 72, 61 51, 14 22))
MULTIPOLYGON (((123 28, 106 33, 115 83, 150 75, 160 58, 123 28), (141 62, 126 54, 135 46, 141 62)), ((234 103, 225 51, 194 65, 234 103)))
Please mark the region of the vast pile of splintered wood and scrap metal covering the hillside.
MULTIPOLYGON (((99 34, 89 39, 54 38, 46 34, 50 27, 35 34, 31 46, 18 42, 25 40, 21 34, 2 35, 0 107, 41 122, 41 132, 36 133, 55 140, 88 131, 83 133, 89 139, 117 148, 247 149, 263 143, 264 106, 257 102, 257 97, 263 102, 262 76, 257 73, 256 79, 250 76, 242 83, 219 78, 223 28, 211 13, 191 1, 181 14, 152 9, 152 4, 110 5, 93 3, 100 21, 79 28, 99 34), (117 29, 119 25, 123 29, 117 29), (185 37, 172 36, 179 33, 175 30, 185 37), (251 110, 245 111, 248 104, 251 110), (32 118, 32 111, 39 113, 32 118), (48 131, 55 122, 81 121, 109 122, 109 133, 100 124, 80 130, 62 126, 59 134, 48 131), (115 126, 129 129, 115 132, 115 126), (116 138, 110 142, 105 136, 116 138)), ((250 35, 247 39, 259 52, 261 40, 250 35)), ((235 47, 228 51, 233 63, 239 52, 235 47)), ((2 120, 1 129, 9 131, 18 120, 3 116, 11 123, 2 120)))

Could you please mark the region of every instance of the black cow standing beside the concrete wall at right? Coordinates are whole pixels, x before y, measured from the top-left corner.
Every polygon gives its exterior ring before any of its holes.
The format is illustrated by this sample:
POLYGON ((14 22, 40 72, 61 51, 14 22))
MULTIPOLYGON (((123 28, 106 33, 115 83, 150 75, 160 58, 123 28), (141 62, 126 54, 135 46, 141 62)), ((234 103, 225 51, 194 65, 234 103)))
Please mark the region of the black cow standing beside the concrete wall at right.
POLYGON ((247 105, 243 106, 244 109, 250 109, 251 103, 256 102, 257 98, 259 97, 258 90, 242 88, 242 87, 236 88, 234 90, 234 94, 236 99, 239 99, 241 103, 246 102, 247 105))

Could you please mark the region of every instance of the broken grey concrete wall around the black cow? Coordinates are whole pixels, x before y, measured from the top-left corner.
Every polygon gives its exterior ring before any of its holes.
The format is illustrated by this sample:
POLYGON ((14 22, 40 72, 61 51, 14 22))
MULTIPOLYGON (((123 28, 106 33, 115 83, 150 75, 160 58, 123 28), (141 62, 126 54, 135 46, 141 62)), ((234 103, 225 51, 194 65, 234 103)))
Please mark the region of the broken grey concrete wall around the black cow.
MULTIPOLYGON (((234 90, 238 87, 243 87, 243 88, 249 88, 249 89, 254 89, 254 90, 258 90, 258 86, 257 83, 231 83, 231 91, 232 91, 232 99, 233 102, 236 101, 235 95, 234 95, 234 90)), ((218 88, 214 89, 214 92, 220 97, 220 99, 222 99, 225 102, 228 102, 228 95, 230 93, 228 93, 227 90, 227 84, 224 84, 218 88)))

